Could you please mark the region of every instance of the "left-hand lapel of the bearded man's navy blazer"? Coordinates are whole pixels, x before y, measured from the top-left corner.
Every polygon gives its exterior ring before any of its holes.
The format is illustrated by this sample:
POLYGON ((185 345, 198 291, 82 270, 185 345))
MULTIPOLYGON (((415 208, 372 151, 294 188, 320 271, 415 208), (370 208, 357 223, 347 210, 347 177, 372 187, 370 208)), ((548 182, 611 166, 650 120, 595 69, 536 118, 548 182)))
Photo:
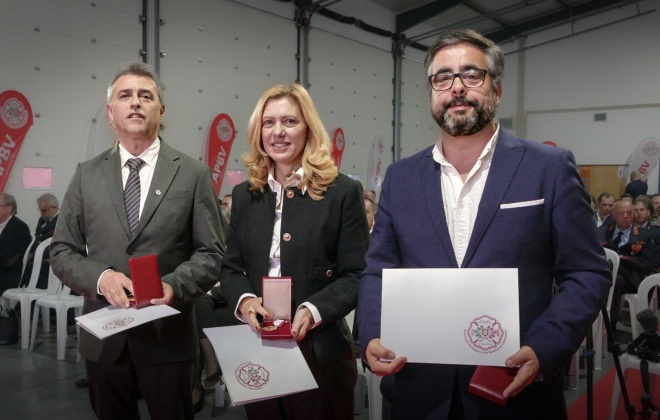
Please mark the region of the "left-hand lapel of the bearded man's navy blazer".
POLYGON ((438 233, 440 243, 444 248, 447 258, 453 267, 458 267, 456 262, 456 254, 451 243, 449 236, 449 228, 447 227, 447 216, 445 214, 444 201, 442 199, 442 188, 440 186, 440 164, 433 160, 433 147, 428 149, 424 154, 424 159, 419 165, 419 175, 422 181, 422 194, 426 198, 426 206, 428 207, 431 220, 438 233))

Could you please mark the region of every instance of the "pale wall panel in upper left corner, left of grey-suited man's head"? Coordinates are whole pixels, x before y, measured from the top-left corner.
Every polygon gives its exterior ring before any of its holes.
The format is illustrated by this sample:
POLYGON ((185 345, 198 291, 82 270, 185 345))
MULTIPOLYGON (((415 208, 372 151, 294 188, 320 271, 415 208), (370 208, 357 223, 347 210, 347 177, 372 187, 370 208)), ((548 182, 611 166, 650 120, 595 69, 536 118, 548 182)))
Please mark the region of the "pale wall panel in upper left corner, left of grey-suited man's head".
POLYGON ((119 64, 140 59, 141 3, 0 0, 0 10, 0 91, 21 92, 38 114, 6 187, 32 228, 35 199, 52 192, 61 200, 86 159, 92 120, 119 64), (23 190, 24 166, 54 167, 55 188, 23 190))

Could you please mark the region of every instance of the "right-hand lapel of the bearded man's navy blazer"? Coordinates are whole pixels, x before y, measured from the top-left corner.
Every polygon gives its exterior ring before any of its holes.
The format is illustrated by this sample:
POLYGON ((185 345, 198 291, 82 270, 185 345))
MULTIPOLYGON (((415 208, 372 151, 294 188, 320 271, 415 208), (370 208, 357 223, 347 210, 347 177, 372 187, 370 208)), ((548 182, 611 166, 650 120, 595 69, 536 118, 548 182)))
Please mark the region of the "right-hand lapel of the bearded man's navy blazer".
POLYGON ((500 204, 504 199, 504 194, 509 189, 509 185, 511 185, 511 181, 518 170, 518 166, 520 166, 520 161, 524 154, 525 148, 522 143, 500 128, 493 160, 488 172, 488 179, 486 180, 484 192, 479 202, 477 219, 475 220, 472 235, 470 236, 470 243, 463 259, 463 267, 467 267, 470 264, 470 260, 481 243, 481 238, 483 238, 486 229, 490 226, 495 213, 499 210, 500 204))

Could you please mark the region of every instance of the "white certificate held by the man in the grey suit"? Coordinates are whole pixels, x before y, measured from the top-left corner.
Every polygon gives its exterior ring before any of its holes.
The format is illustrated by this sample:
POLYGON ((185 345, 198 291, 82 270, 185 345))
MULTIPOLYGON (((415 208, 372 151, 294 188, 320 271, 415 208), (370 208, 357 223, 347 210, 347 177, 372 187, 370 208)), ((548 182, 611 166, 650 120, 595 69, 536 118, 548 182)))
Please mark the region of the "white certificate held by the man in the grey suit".
POLYGON ((149 305, 141 309, 106 306, 98 311, 79 316, 76 321, 78 321, 78 325, 97 338, 104 339, 118 332, 178 313, 181 312, 167 305, 149 305))

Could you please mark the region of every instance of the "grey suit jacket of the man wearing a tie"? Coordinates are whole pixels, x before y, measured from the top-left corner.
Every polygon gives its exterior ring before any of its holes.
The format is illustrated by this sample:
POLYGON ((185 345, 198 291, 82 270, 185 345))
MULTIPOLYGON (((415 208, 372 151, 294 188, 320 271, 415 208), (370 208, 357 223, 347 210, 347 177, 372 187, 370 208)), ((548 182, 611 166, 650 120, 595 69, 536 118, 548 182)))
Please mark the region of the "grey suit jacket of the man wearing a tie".
POLYGON ((128 343, 139 364, 194 358, 199 353, 193 301, 220 277, 224 236, 208 167, 161 141, 139 225, 131 237, 118 147, 78 165, 51 243, 53 271, 85 297, 84 313, 108 303, 97 281, 108 268, 130 277, 128 260, 158 255, 162 280, 174 289, 180 314, 104 340, 81 331, 80 353, 111 363, 128 343))

